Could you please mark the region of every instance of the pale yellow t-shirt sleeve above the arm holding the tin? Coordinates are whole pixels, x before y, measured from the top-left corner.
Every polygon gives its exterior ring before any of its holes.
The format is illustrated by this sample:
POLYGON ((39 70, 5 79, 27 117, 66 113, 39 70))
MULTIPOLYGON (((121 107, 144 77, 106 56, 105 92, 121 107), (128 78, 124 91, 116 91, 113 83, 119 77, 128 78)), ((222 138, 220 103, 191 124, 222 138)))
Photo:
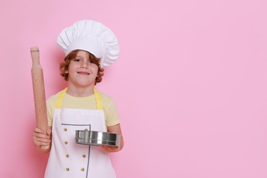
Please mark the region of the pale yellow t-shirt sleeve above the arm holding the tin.
POLYGON ((104 106, 104 110, 106 112, 106 125, 107 127, 117 125, 120 123, 119 117, 118 117, 118 110, 116 108, 116 104, 112 98, 108 99, 106 108, 104 106))

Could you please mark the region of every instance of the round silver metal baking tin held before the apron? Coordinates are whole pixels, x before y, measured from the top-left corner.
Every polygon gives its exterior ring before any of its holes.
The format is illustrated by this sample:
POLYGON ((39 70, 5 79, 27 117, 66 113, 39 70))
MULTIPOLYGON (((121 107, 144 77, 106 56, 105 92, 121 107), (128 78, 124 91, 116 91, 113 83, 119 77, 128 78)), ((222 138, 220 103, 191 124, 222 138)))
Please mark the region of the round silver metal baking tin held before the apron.
POLYGON ((87 144, 91 146, 108 145, 113 147, 120 146, 120 134, 103 132, 76 130, 75 142, 77 144, 87 144))

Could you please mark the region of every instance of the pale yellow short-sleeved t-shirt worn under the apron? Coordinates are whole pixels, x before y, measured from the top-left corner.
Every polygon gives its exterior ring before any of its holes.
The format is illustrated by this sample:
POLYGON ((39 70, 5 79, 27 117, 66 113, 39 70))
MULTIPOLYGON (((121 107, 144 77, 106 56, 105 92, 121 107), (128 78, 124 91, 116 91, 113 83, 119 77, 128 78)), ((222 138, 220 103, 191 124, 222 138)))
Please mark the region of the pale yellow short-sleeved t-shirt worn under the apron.
MULTIPOLYGON (((55 103, 57 102, 58 97, 60 96, 60 92, 55 95, 52 95, 49 99, 47 99, 47 117, 49 126, 52 126, 53 123, 55 103)), ((101 92, 99 92, 99 94, 101 95, 103 103, 106 127, 117 125, 118 123, 120 123, 120 120, 118 118, 118 112, 113 99, 107 94, 103 94, 101 92)), ((88 97, 73 97, 70 94, 65 93, 62 100, 61 108, 97 110, 97 103, 94 94, 88 97)))

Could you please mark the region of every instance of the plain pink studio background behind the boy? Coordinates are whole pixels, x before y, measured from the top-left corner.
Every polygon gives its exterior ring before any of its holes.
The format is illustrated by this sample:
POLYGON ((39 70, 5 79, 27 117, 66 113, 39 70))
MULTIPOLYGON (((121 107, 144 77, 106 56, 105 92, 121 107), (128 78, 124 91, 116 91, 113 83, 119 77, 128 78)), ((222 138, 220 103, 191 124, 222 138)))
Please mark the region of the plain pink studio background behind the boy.
POLYGON ((43 177, 29 48, 40 48, 47 97, 66 86, 55 40, 94 19, 120 57, 97 88, 117 103, 125 148, 118 178, 267 177, 267 1, 3 1, 0 177, 43 177))

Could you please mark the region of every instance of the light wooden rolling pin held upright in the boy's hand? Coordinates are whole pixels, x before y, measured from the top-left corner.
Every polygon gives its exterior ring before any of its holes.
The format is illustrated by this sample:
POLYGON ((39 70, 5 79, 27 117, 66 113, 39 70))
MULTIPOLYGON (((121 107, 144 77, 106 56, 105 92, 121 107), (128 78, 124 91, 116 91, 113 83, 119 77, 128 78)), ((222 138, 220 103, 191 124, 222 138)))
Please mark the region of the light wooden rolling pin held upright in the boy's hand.
POLYGON ((31 79, 34 87, 34 105, 36 114, 36 126, 47 131, 47 104, 44 92, 44 76, 40 65, 39 48, 31 47, 31 79))

